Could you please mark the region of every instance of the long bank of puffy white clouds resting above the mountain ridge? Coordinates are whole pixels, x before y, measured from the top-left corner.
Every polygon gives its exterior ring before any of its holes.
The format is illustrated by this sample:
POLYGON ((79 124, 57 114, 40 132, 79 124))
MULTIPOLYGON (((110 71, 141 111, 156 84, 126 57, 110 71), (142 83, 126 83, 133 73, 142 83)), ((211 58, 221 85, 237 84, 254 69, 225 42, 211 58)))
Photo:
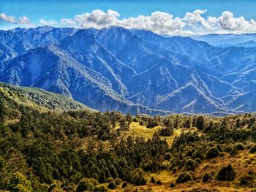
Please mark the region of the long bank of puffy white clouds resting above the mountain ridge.
MULTIPOLYGON (((255 20, 246 20, 243 17, 236 18, 232 12, 222 12, 219 17, 208 16, 207 10, 197 9, 187 12, 184 17, 176 18, 167 12, 152 12, 151 15, 139 15, 136 18, 120 18, 120 14, 113 10, 104 12, 94 10, 74 18, 63 18, 60 26, 75 28, 106 28, 110 26, 121 26, 124 28, 138 28, 153 31, 157 34, 189 35, 189 34, 242 34, 255 33, 255 20)), ((58 25, 56 22, 45 22, 41 24, 58 25)))

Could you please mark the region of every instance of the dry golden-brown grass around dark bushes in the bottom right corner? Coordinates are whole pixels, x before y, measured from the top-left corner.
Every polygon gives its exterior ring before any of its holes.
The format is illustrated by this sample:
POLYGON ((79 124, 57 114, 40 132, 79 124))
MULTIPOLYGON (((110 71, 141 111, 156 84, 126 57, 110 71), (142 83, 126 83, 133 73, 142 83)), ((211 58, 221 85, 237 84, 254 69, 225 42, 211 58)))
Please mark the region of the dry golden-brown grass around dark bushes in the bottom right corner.
MULTIPOLYGON (((176 178, 178 177, 178 172, 176 174, 172 174, 171 172, 165 170, 157 173, 147 173, 146 177, 148 181, 151 177, 157 181, 161 181, 162 185, 151 184, 142 186, 129 186, 126 191, 156 191, 156 192, 164 192, 164 191, 173 191, 173 192, 196 192, 196 191, 220 191, 220 192, 255 192, 256 188, 247 188, 241 187, 239 185, 239 179, 249 172, 249 170, 256 172, 256 154, 250 154, 248 150, 239 151, 237 155, 230 155, 228 153, 223 153, 219 155, 217 158, 212 158, 209 160, 203 161, 200 166, 195 169, 195 181, 187 182, 183 184, 178 184, 175 187, 171 188, 170 183, 176 183, 176 178), (233 168, 236 171, 236 180, 233 182, 219 182, 217 180, 211 180, 209 183, 201 183, 201 177, 205 172, 214 172, 214 175, 217 174, 219 169, 222 166, 227 166, 227 164, 232 164, 233 168)), ((119 186, 114 191, 124 191, 119 186)))

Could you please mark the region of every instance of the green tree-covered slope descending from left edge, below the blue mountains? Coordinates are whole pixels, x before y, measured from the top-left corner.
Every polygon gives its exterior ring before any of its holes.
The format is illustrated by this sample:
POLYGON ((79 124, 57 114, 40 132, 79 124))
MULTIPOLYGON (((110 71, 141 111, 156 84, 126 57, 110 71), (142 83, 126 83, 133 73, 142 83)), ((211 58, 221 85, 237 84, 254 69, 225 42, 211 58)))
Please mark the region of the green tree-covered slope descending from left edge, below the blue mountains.
POLYGON ((67 96, 51 93, 39 88, 28 88, 0 82, 1 102, 10 108, 33 107, 38 110, 56 110, 65 112, 69 110, 91 110, 89 107, 74 101, 67 96))

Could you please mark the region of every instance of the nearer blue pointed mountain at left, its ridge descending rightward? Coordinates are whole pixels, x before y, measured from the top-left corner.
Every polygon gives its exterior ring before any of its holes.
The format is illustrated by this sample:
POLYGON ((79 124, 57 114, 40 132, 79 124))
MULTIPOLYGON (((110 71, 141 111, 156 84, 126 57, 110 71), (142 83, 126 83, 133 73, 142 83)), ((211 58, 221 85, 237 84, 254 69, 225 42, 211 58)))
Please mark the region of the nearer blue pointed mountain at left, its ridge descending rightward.
POLYGON ((58 47, 49 45, 31 50, 3 63, 0 81, 33 86, 62 93, 97 110, 120 110, 165 115, 170 112, 134 105, 112 89, 112 82, 99 72, 70 58, 58 47))

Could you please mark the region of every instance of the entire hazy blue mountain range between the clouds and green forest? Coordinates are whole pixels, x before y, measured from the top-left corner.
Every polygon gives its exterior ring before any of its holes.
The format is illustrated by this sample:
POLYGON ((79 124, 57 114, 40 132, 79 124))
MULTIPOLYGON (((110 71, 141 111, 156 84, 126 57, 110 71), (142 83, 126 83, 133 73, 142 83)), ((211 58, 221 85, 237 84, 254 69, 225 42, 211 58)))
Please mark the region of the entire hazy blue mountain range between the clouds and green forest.
POLYGON ((112 27, 0 31, 0 81, 97 110, 148 115, 256 110, 256 48, 112 27))

